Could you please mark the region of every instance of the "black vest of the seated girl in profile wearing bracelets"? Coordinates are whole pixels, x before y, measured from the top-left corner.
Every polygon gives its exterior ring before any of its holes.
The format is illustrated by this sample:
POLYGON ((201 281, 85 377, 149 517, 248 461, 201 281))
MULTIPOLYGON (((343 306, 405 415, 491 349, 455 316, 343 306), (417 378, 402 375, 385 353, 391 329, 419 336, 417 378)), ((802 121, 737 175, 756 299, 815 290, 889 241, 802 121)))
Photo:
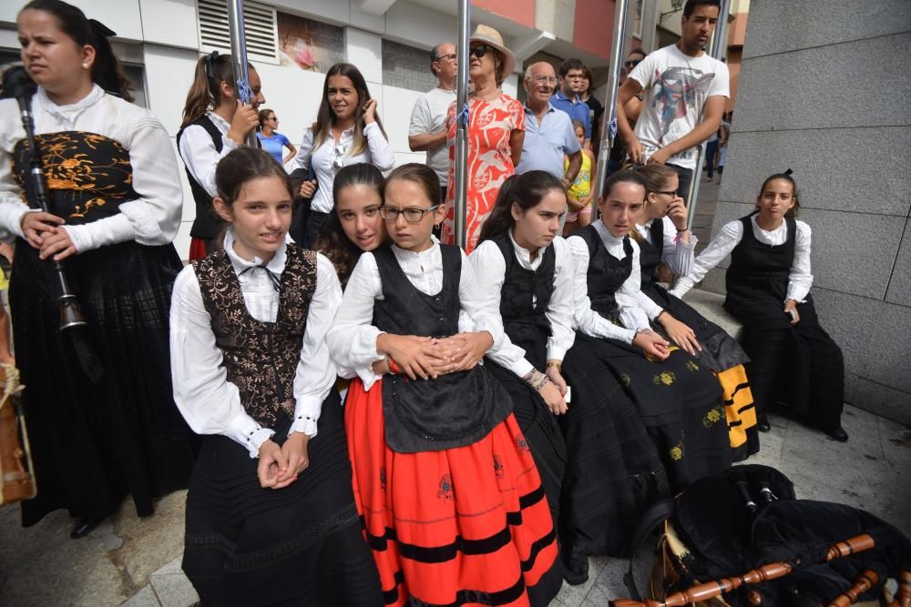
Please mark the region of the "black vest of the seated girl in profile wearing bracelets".
POLYGON ((507 233, 494 238, 506 261, 500 293, 500 317, 509 340, 525 349, 526 358, 538 370, 547 363, 547 339, 551 335, 547 311, 554 293, 557 254, 551 244, 544 250, 537 270, 523 268, 507 233))

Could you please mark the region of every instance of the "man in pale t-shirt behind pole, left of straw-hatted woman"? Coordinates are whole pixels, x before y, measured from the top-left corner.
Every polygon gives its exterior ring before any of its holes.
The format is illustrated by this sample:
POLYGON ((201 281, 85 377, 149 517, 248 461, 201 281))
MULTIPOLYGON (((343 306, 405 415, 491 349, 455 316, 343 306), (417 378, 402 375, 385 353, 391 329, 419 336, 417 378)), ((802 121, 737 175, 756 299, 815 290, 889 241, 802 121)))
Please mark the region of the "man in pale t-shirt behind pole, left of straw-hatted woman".
POLYGON ((449 148, 446 147, 446 113, 455 101, 455 72, 458 68, 455 46, 444 42, 430 50, 430 69, 439 84, 417 98, 408 126, 408 147, 426 152, 428 167, 440 178, 441 200, 446 199, 449 179, 449 148))

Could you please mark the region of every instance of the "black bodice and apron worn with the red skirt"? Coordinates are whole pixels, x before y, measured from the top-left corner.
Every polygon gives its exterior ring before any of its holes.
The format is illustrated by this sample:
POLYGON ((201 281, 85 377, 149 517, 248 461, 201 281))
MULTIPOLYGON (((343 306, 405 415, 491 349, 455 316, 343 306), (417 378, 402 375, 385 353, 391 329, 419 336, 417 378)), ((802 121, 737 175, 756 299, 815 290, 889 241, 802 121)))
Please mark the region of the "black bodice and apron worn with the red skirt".
MULTIPOLYGON (((462 254, 440 245, 443 288, 415 288, 390 247, 374 250, 383 300, 374 302, 374 326, 394 335, 448 337, 458 332, 462 254)), ((400 453, 454 449, 484 438, 512 412, 512 400, 482 365, 437 379, 383 378, 386 444, 400 453)))

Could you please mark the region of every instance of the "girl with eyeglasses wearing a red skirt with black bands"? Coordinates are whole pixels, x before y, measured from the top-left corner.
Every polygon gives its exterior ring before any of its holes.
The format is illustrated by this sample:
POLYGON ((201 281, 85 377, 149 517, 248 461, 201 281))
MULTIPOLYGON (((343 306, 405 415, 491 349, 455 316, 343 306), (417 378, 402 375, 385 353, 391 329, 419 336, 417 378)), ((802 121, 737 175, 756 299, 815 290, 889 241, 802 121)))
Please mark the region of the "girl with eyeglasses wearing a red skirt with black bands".
POLYGON ((465 253, 440 245, 439 180, 397 167, 380 207, 393 244, 354 267, 328 342, 353 377, 354 496, 385 604, 496 596, 547 605, 557 540, 512 401, 477 363, 503 341, 465 253), (459 332, 461 314, 473 332, 459 332))

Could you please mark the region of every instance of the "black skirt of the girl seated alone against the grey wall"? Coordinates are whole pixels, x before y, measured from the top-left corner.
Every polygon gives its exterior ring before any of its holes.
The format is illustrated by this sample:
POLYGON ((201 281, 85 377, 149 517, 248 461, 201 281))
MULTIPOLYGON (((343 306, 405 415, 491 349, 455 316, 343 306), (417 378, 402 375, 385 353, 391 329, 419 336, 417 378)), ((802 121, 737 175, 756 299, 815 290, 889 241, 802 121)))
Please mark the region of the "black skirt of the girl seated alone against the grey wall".
POLYGON ((797 304, 796 325, 783 304, 768 296, 748 301, 729 296, 724 307, 743 323, 741 341, 750 357, 747 373, 758 410, 781 401, 820 428, 841 425, 844 358, 819 325, 813 298, 797 304))

